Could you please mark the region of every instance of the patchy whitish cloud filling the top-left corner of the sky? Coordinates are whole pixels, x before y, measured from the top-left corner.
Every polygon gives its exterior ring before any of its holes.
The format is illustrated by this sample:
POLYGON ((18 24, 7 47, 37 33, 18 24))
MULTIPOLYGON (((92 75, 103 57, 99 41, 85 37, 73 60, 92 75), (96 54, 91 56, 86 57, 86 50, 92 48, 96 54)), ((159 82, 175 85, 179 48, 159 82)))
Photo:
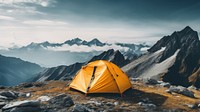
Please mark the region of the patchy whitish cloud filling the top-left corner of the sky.
MULTIPOLYGON (((10 15, 45 14, 40 8, 53 7, 55 0, 0 0, 0 13, 10 15)), ((22 16, 23 17, 23 16, 22 16)))

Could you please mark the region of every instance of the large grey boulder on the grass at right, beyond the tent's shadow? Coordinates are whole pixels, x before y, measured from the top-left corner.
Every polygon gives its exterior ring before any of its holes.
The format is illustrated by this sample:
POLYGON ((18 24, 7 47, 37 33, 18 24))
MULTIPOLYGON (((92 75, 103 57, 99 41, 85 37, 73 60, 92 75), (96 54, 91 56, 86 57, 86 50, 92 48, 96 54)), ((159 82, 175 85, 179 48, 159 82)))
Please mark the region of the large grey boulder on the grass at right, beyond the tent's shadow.
POLYGON ((182 86, 171 86, 167 91, 182 94, 182 95, 185 95, 185 96, 188 96, 188 97, 191 97, 191 98, 195 97, 194 92, 192 92, 192 91, 190 91, 187 88, 182 87, 182 86))

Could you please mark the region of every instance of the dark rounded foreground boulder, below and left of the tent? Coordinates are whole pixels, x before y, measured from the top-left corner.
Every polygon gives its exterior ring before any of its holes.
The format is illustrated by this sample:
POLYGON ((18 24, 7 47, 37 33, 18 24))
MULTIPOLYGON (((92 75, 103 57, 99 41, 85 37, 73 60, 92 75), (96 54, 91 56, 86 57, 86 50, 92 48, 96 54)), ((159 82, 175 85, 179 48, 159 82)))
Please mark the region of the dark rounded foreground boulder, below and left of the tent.
POLYGON ((50 99, 49 103, 53 104, 54 106, 64 106, 64 107, 70 107, 74 105, 72 98, 70 96, 67 96, 66 94, 61 94, 50 99))

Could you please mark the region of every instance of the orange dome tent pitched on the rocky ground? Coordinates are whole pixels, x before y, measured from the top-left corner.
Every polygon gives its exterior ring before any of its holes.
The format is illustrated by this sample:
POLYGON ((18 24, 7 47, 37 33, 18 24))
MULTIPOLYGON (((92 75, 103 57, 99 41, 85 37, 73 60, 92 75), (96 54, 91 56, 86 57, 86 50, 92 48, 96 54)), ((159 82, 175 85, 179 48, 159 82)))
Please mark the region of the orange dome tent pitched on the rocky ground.
POLYGON ((98 60, 83 66, 70 88, 83 93, 120 93, 131 88, 127 75, 115 64, 98 60))

